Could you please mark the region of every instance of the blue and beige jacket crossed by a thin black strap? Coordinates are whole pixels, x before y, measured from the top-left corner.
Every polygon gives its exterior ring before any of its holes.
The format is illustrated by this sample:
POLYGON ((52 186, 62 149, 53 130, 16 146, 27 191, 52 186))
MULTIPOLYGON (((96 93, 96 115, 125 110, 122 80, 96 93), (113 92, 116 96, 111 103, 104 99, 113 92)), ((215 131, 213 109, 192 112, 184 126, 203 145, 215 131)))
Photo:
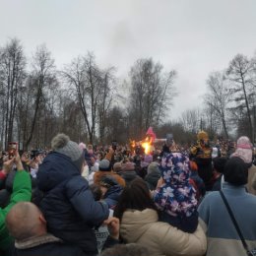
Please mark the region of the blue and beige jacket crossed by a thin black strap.
MULTIPOLYGON (((227 182, 223 192, 249 249, 256 248, 256 197, 248 194, 244 186, 232 186, 227 182)), ((207 256, 246 255, 219 191, 209 193, 198 212, 208 238, 207 256)))

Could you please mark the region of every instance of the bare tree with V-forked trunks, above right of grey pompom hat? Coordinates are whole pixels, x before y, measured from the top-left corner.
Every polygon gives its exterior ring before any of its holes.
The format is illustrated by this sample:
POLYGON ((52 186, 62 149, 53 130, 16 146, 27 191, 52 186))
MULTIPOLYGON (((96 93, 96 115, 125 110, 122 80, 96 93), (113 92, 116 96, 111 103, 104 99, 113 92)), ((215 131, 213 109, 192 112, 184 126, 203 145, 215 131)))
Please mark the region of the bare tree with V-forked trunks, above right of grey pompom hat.
MULTIPOLYGON (((106 98, 110 73, 102 72, 96 65, 95 56, 78 57, 62 72, 67 83, 75 88, 80 108, 83 113, 90 143, 96 140, 96 121, 99 99, 104 100, 104 109, 107 107, 106 98)), ((102 104, 102 102, 101 102, 102 104)))

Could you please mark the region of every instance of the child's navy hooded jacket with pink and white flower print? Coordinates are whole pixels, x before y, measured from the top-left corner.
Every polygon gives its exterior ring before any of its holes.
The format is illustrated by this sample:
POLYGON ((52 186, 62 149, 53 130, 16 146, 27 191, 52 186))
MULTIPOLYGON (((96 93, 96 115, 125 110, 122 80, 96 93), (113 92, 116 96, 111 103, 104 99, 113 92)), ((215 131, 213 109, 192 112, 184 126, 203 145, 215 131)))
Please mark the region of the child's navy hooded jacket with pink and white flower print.
POLYGON ((154 194, 158 209, 174 217, 191 216, 197 209, 197 200, 189 183, 189 159, 181 153, 170 153, 161 160, 160 172, 165 183, 154 194))

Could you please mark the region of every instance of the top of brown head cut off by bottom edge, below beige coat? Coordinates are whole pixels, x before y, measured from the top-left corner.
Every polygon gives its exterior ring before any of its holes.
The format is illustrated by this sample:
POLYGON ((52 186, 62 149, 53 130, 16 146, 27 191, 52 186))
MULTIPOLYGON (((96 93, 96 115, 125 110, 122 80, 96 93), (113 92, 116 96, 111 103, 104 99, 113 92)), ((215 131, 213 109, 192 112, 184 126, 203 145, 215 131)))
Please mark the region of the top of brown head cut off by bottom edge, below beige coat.
POLYGON ((100 256, 148 256, 148 248, 138 243, 117 244, 105 249, 100 256))

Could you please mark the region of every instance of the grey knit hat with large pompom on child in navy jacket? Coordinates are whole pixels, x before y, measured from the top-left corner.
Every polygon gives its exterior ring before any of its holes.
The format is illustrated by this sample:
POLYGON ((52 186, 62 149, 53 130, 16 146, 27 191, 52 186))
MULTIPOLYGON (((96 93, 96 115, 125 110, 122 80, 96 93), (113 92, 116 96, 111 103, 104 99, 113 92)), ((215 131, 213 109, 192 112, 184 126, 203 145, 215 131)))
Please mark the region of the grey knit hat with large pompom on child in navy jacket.
POLYGON ((51 141, 51 148, 54 152, 63 154, 81 171, 83 162, 85 161, 84 152, 79 148, 78 144, 71 141, 70 138, 59 133, 51 141))

